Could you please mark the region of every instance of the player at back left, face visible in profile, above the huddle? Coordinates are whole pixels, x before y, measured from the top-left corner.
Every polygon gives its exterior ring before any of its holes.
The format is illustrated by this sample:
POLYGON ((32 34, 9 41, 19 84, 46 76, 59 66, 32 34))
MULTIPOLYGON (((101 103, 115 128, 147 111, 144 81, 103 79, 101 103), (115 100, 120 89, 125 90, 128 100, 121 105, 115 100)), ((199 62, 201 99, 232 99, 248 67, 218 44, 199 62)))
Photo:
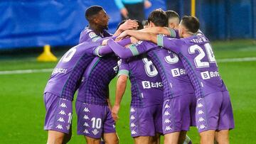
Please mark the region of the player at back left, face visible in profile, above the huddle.
MULTIPOLYGON (((106 38, 112 36, 106 30, 108 29, 108 22, 110 17, 107 15, 106 11, 101 6, 90 6, 85 11, 85 18, 89 22, 89 26, 80 33, 79 43, 82 42, 97 42, 100 38, 106 38)), ((122 31, 129 30, 132 28, 137 28, 138 23, 133 20, 127 20, 123 23, 114 36, 119 35, 122 31)))

